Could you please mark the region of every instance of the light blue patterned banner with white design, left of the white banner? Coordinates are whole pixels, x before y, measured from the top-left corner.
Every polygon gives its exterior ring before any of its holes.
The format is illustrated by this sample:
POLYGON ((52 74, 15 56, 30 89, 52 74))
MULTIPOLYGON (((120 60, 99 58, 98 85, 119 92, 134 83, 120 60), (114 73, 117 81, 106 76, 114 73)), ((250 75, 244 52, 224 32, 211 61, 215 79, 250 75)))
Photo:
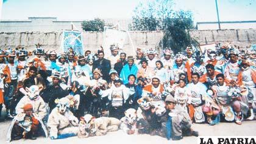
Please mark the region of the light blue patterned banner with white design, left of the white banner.
POLYGON ((77 54, 84 55, 84 45, 81 32, 72 30, 63 31, 61 49, 63 52, 68 52, 70 47, 72 47, 74 52, 77 54))

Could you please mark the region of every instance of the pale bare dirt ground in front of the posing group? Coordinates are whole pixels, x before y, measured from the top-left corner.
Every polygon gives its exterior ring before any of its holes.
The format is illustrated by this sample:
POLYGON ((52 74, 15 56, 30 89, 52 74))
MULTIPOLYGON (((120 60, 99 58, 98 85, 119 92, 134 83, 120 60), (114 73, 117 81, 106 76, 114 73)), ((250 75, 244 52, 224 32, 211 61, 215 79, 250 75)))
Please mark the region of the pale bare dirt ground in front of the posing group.
MULTIPOLYGON (((7 129, 10 121, 0 122, 0 143, 8 143, 6 141, 7 129)), ((209 126, 207 124, 193 124, 193 129, 199 131, 200 136, 256 136, 256 121, 243 122, 242 125, 235 123, 219 123, 219 125, 209 126)), ((54 144, 67 144, 67 143, 111 143, 111 144, 135 144, 135 143, 182 143, 193 144, 197 143, 197 137, 183 137, 182 140, 172 141, 159 136, 151 135, 127 135, 123 131, 108 132, 107 135, 98 137, 88 137, 79 139, 78 137, 69 137, 68 139, 51 140, 45 137, 38 137, 37 140, 18 140, 10 143, 54 143, 54 144)))

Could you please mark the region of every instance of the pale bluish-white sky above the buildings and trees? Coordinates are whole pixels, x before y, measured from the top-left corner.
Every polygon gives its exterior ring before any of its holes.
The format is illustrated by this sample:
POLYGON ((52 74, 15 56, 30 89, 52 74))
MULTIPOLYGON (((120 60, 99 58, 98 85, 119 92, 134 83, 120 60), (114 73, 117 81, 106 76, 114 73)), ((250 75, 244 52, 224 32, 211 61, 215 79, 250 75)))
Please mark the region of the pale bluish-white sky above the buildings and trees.
MULTIPOLYGON (((1 19, 130 19, 136 5, 146 1, 150 0, 5 0, 1 19)), ((174 0, 174 3, 176 10, 191 10, 194 22, 217 21, 215 0, 174 0)), ((220 21, 256 20, 256 0, 218 0, 218 7, 220 21)))

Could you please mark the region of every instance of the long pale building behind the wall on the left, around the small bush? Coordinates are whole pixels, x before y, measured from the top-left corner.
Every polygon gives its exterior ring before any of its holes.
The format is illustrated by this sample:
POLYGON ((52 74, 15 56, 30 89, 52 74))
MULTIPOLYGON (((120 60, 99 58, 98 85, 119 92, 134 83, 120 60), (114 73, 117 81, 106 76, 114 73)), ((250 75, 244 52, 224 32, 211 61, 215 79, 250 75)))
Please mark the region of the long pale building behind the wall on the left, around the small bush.
MULTIPOLYGON (((124 30, 128 29, 130 19, 104 19, 108 24, 119 24, 124 30)), ((57 32, 71 30, 71 22, 77 30, 82 31, 81 21, 61 21, 55 17, 31 17, 27 20, 1 20, 0 32, 57 32)), ((75 29, 75 28, 74 28, 75 29)))

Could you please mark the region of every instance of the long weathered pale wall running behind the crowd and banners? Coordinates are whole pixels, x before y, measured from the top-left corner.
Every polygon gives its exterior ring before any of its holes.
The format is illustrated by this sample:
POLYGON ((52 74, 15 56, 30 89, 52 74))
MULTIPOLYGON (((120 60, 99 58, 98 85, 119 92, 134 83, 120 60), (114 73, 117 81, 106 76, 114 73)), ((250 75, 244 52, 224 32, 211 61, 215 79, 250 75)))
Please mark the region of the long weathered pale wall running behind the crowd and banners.
MULTIPOLYGON (((216 42, 231 42, 238 46, 247 46, 256 43, 256 29, 247 30, 192 30, 191 36, 200 44, 209 44, 216 42)), ((143 47, 144 49, 155 48, 163 37, 162 31, 152 32, 130 32, 130 37, 135 49, 143 47)), ((102 45, 103 33, 84 32, 83 41, 85 50, 96 51, 102 45)), ((26 49, 34 49, 36 43, 43 44, 44 49, 55 49, 61 52, 60 43, 62 41, 62 32, 2 32, 0 33, 0 47, 16 47, 23 45, 26 49)), ((129 38, 124 44, 124 51, 128 54, 134 52, 129 38)))

